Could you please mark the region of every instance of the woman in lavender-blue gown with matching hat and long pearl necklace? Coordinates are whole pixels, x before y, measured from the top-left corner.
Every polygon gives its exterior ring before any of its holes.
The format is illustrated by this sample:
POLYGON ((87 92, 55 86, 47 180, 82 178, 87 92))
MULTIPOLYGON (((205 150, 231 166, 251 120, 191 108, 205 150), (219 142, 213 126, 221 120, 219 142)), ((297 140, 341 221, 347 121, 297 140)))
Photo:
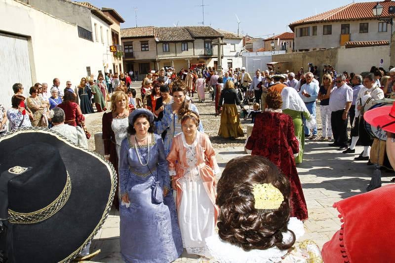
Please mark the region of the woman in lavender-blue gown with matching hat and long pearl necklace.
POLYGON ((147 109, 134 110, 128 119, 128 135, 119 153, 122 259, 127 263, 172 262, 183 247, 174 200, 169 194, 162 138, 153 133, 154 114, 147 109), (160 195, 155 194, 158 191, 160 195), (163 202, 159 200, 161 195, 163 202))

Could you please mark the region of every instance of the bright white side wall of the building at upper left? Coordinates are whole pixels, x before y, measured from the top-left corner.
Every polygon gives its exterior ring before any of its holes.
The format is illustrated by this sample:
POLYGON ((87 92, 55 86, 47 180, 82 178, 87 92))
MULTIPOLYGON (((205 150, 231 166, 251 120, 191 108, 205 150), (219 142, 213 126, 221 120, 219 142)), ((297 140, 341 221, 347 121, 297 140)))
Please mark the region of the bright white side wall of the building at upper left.
MULTIPOLYGON (((54 77, 60 79, 62 88, 67 80, 71 80, 74 87, 86 76, 86 67, 90 67, 96 77, 99 70, 104 72, 106 42, 79 38, 77 26, 28 5, 0 0, 0 31, 29 38, 32 83, 22 83, 25 87, 36 82, 47 82, 51 86, 54 77)), ((14 82, 19 82, 17 74, 13 77, 14 82)))

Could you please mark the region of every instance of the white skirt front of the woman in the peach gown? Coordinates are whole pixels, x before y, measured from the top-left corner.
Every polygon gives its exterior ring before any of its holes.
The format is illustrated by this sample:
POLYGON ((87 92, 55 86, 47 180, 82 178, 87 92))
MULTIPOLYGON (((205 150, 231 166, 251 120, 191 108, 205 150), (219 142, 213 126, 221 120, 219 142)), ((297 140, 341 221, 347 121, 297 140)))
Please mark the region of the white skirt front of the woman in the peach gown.
POLYGON ((194 180, 183 177, 178 182, 182 189, 178 222, 183 246, 188 254, 210 257, 205 238, 214 234, 214 206, 199 175, 194 180))

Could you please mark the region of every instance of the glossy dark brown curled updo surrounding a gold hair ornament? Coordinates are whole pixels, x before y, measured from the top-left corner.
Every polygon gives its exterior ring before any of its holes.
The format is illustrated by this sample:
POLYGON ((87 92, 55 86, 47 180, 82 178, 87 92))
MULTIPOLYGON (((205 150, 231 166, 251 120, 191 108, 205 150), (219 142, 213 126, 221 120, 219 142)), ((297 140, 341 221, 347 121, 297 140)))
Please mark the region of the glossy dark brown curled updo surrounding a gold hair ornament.
POLYGON ((219 237, 246 251, 290 248, 295 243, 295 233, 287 228, 290 193, 288 179, 267 158, 246 155, 232 159, 217 186, 219 237), (265 183, 272 184, 284 196, 278 209, 255 209, 253 185, 265 183), (292 240, 284 242, 282 233, 287 231, 292 240))

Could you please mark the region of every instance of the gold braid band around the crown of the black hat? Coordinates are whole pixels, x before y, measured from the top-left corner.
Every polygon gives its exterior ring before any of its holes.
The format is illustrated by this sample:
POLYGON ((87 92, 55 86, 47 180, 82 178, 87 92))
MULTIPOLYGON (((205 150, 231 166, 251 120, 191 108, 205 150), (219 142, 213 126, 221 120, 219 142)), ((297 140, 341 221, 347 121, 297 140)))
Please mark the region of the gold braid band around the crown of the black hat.
POLYGON ((66 185, 59 196, 46 207, 31 213, 18 213, 8 209, 8 222, 13 224, 35 224, 56 214, 67 202, 71 193, 71 179, 67 173, 66 185))

